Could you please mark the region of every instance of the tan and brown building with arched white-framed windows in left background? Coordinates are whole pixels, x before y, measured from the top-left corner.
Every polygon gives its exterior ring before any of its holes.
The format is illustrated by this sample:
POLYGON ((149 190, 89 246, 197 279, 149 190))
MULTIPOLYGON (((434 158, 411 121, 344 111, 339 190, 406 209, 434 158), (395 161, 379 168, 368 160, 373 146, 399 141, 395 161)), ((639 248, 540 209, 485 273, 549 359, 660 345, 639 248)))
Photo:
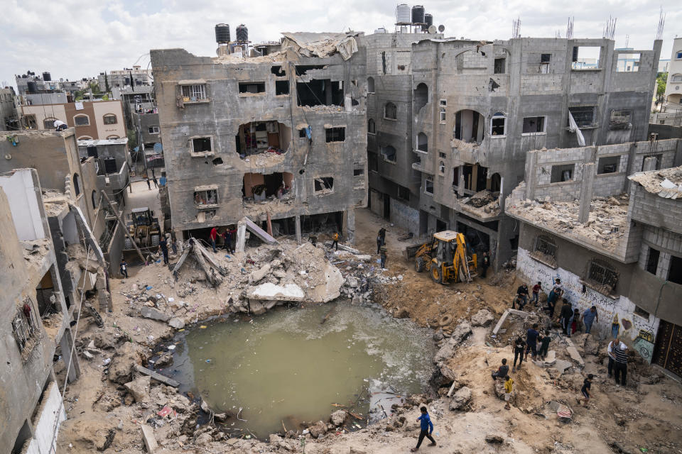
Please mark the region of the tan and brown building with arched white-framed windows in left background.
POLYGON ((53 129, 55 120, 75 128, 77 140, 126 137, 121 101, 82 101, 21 106, 28 129, 53 129))

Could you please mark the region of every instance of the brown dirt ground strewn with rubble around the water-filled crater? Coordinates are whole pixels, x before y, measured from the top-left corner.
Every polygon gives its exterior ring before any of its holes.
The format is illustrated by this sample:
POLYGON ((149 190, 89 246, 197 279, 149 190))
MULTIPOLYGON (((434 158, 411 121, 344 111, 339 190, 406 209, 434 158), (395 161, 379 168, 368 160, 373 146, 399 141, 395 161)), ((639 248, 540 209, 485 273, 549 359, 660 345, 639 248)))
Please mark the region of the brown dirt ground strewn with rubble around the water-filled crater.
MULTIPOLYGON (((68 419, 60 428, 58 452, 144 453, 141 423, 149 421, 168 404, 178 414, 175 419, 171 415, 164 426, 155 429, 156 440, 161 445, 156 453, 401 453, 416 444, 416 417, 418 406, 423 403, 428 405, 438 442, 437 448, 429 448, 426 441, 421 448, 426 452, 682 453, 680 384, 638 363, 632 365, 628 386, 617 387, 607 378, 603 344, 597 355, 583 355, 585 367, 572 362, 563 374, 532 361, 524 363, 519 371, 511 374, 515 381, 514 399, 511 410, 504 410, 504 402, 497 397, 489 374, 502 358, 511 362, 513 355, 511 348, 504 345, 506 340, 497 346, 490 330, 509 307, 519 282, 515 282, 512 273, 503 271, 499 275, 490 273, 487 279, 476 278, 471 284, 434 284, 428 274, 416 273, 411 262, 404 260, 402 250, 413 244, 398 240, 404 232, 368 210, 357 210, 357 248, 372 254, 372 260, 378 258, 376 236, 381 226, 387 229, 389 257, 384 275, 396 277, 394 284, 385 285, 380 292, 386 309, 395 316, 409 316, 423 326, 435 326, 443 316, 450 316, 453 321, 444 328, 446 335, 480 309, 488 309, 495 316, 495 321, 487 327, 474 327, 472 335, 447 360, 455 375, 453 391, 470 389, 471 399, 464 409, 450 410, 450 398, 444 395, 448 384, 431 397, 408 399, 408 404, 396 409, 391 419, 357 432, 330 430, 319 440, 310 435, 274 436, 271 443, 263 443, 239 438, 217 441, 222 438, 222 432, 210 426, 197 429, 195 425, 199 421, 190 411, 195 404, 189 404, 186 397, 165 385, 152 382, 151 399, 133 402, 126 388, 111 380, 114 362, 120 365, 121 358, 127 358, 130 363, 144 363, 155 353, 161 353, 151 350, 158 340, 173 333, 167 323, 136 316, 136 311, 131 309, 134 298, 126 297, 134 285, 151 286, 148 293, 158 292, 166 299, 184 298, 190 303, 188 311, 192 311, 195 320, 227 310, 228 295, 200 282, 195 284, 192 294, 178 297, 181 287, 175 284, 168 268, 155 263, 131 267, 129 279, 111 279, 114 311, 102 314, 103 328, 90 319, 80 322, 77 345, 82 350, 92 341, 94 358, 86 360, 80 356, 82 376, 67 388, 68 419), (109 364, 109 361, 112 362, 109 364), (108 375, 104 373, 107 367, 108 375), (575 399, 588 373, 596 377, 592 384, 593 399, 585 408, 575 399), (570 422, 560 421, 550 402, 568 405, 573 410, 570 422), (207 432, 200 434, 201 431, 207 432), (186 435, 192 432, 194 436, 186 435)), ((553 340, 550 348, 556 350, 557 358, 567 358, 564 344, 561 336, 553 340)), ((63 380, 63 372, 57 372, 63 380)))

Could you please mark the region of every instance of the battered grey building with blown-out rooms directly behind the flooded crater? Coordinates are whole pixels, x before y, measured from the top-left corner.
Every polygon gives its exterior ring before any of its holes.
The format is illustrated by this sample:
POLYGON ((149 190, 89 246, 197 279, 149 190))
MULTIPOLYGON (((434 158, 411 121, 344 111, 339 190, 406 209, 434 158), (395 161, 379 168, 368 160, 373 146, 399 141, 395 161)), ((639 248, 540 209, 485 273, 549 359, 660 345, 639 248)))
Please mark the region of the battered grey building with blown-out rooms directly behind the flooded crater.
MULTIPOLYGON (((284 33, 278 52, 151 50, 173 230, 272 219, 354 240, 367 199, 362 33, 284 33)), ((202 230, 204 229, 204 230, 202 230)))

